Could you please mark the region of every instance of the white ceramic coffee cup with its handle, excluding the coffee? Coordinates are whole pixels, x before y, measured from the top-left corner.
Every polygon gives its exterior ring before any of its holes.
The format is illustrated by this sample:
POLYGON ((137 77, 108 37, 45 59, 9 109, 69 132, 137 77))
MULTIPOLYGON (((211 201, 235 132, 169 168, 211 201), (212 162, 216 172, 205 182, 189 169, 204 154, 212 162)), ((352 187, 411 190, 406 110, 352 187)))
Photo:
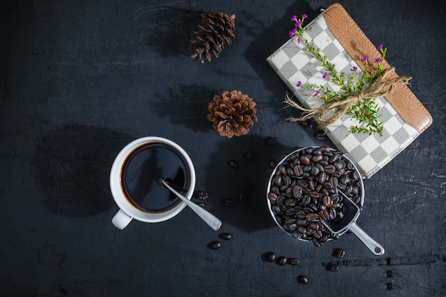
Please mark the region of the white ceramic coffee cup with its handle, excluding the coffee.
POLYGON ((185 194, 185 197, 187 199, 191 199, 194 193, 195 167, 189 155, 187 155, 187 152, 185 152, 185 150, 183 150, 180 145, 177 145, 177 143, 173 142, 172 140, 155 136, 142 137, 137 140, 133 140, 119 152, 118 156, 113 162, 110 171, 110 190, 113 195, 113 199, 115 199, 116 204, 118 204, 118 207, 120 208, 119 211, 115 214, 115 217, 113 217, 112 222, 118 229, 124 229, 125 226, 127 226, 132 221, 132 219, 136 219, 140 222, 146 223, 164 222, 167 219, 175 217, 182 211, 182 209, 186 207, 186 204, 184 202, 180 202, 175 207, 165 212, 145 212, 142 209, 136 207, 135 204, 130 202, 125 197, 125 194, 123 192, 124 189, 121 183, 124 162, 125 160, 127 160, 129 155, 135 151, 137 147, 148 145, 150 143, 163 143, 165 145, 169 145, 180 155, 182 155, 182 157, 187 162, 187 167, 190 174, 190 182, 188 185, 189 187, 187 187, 187 193, 185 194))

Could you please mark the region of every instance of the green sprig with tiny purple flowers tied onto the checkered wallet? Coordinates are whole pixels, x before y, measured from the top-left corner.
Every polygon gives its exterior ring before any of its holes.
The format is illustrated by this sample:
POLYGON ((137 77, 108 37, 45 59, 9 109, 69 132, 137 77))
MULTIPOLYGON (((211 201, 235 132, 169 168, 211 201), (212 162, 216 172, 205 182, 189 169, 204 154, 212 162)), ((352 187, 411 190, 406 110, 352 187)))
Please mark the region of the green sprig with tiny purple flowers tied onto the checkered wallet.
MULTIPOLYGON (((323 120, 323 114, 321 113, 313 113, 313 110, 305 110, 304 108, 300 108, 301 110, 306 111, 307 115, 304 118, 297 118, 297 120, 307 120, 308 118, 318 118, 320 125, 322 127, 329 125, 330 123, 334 123, 338 118, 345 113, 350 115, 352 118, 358 120, 360 125, 351 126, 349 133, 353 132, 363 132, 372 135, 375 132, 378 132, 380 135, 383 135, 383 123, 380 121, 380 108, 376 103, 375 98, 379 97, 379 95, 383 94, 380 92, 380 88, 378 88, 375 92, 378 94, 376 97, 368 98, 367 95, 374 94, 373 92, 368 92, 368 88, 370 85, 373 85, 376 80, 382 80, 382 76, 385 74, 385 69, 383 68, 382 62, 384 61, 385 55, 387 53, 387 48, 383 48, 383 44, 380 44, 376 48, 376 51, 380 54, 380 57, 373 59, 370 65, 369 56, 365 56, 361 59, 361 61, 365 64, 365 68, 360 75, 358 73, 358 68, 353 66, 349 73, 338 73, 336 71, 336 67, 333 63, 328 61, 328 58, 321 53, 320 48, 316 46, 313 40, 309 41, 304 38, 304 20, 308 16, 303 14, 299 19, 297 16, 292 16, 291 21, 294 21, 293 30, 289 31, 289 37, 294 38, 297 36, 297 43, 304 44, 306 51, 309 51, 313 54, 314 58, 322 63, 323 67, 323 75, 322 78, 331 81, 339 86, 341 90, 335 92, 330 88, 326 88, 323 85, 316 85, 314 83, 302 83, 298 81, 296 83, 297 88, 305 88, 305 89, 313 89, 315 93, 313 96, 317 96, 324 100, 326 105, 334 105, 339 106, 339 110, 341 112, 336 113, 335 116, 331 117, 330 120, 323 120), (373 67, 373 71, 370 71, 369 68, 373 67), (349 78, 347 78, 349 76, 349 78), (354 100, 351 100, 353 98, 354 100), (343 104, 345 102, 345 104, 343 104), (322 122, 322 123, 321 123, 322 122)), ((409 78, 410 79, 410 78, 409 78)), ((385 87, 388 85, 383 84, 385 87)), ((388 91, 387 91, 388 93, 388 91)), ((288 102, 289 103, 289 102, 288 102)), ((293 104, 293 106, 295 106, 293 104)), ((330 108, 324 108, 322 111, 326 113, 326 111, 331 110, 330 108)), ((339 111, 338 110, 338 111, 339 111)))

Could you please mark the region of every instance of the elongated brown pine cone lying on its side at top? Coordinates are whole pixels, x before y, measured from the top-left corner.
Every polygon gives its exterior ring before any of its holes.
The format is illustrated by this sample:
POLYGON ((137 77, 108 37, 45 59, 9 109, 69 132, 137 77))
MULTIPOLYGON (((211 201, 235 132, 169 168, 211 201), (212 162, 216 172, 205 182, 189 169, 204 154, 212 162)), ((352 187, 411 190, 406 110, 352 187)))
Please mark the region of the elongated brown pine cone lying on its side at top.
POLYGON ((219 12, 218 14, 202 14, 203 23, 198 25, 199 31, 194 31, 194 39, 190 41, 189 50, 192 60, 199 59, 204 63, 204 58, 211 61, 211 53, 218 58, 224 45, 231 44, 235 38, 235 15, 229 16, 219 12))

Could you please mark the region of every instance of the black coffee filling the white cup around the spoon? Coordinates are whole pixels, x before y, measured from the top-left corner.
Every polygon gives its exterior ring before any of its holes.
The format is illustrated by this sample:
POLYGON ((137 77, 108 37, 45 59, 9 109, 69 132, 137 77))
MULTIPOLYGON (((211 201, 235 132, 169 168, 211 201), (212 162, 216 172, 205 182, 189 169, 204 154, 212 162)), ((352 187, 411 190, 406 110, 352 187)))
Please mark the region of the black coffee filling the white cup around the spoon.
POLYGON ((136 147, 123 163, 121 186, 125 197, 143 212, 167 212, 181 202, 160 182, 188 189, 190 170, 184 157, 175 148, 162 142, 136 147))

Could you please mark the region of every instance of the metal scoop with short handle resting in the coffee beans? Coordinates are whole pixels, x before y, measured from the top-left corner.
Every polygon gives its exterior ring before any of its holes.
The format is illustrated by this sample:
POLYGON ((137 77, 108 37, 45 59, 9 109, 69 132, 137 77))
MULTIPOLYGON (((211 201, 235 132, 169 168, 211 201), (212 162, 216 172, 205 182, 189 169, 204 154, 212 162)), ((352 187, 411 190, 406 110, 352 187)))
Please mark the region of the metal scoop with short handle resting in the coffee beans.
POLYGON ((321 223, 326 226, 328 230, 333 232, 334 234, 338 234, 350 229, 356 236, 358 236, 361 241, 372 251, 373 254, 377 256, 381 256, 384 254, 384 248, 378 242, 373 240, 368 234, 366 234, 363 229, 361 229, 356 224, 356 219, 358 219, 361 214, 361 210, 358 205, 353 203, 351 199, 349 199, 346 194, 339 191, 339 194, 343 195, 343 207, 347 208, 347 213, 336 221, 333 220, 321 220, 321 223))

